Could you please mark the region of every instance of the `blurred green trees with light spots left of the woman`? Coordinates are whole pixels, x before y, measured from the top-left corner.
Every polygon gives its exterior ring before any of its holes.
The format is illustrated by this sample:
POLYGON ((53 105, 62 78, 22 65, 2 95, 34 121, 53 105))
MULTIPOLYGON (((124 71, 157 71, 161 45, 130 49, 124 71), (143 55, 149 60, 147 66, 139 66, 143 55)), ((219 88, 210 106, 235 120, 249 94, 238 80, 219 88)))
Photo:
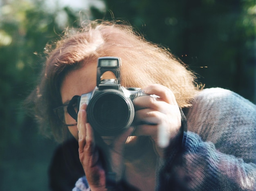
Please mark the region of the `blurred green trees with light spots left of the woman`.
POLYGON ((47 167, 56 143, 38 135, 21 105, 36 85, 45 45, 64 27, 79 25, 79 13, 57 3, 45 9, 43 0, 1 3, 0 190, 47 190, 47 167))

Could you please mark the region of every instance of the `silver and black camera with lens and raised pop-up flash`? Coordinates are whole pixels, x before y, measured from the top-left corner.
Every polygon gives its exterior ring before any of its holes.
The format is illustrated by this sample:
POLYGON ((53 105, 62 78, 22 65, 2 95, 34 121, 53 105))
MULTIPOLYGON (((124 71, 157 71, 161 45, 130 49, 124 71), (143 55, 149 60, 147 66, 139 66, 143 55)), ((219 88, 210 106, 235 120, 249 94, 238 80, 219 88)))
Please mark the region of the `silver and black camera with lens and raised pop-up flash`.
POLYGON ((87 106, 87 120, 100 136, 116 136, 126 131, 133 122, 135 108, 133 99, 148 95, 140 88, 121 86, 121 59, 100 57, 97 65, 97 86, 92 92, 82 94, 79 108, 87 106), (105 72, 115 78, 102 79, 105 72))

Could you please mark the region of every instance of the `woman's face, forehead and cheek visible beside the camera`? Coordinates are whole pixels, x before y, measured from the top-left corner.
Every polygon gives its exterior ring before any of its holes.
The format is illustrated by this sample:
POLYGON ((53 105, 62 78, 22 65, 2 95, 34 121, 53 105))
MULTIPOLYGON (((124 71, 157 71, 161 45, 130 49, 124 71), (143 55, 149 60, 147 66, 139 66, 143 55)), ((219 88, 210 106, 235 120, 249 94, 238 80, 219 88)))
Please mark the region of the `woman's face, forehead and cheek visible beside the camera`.
MULTIPOLYGON (((74 95, 91 92, 96 86, 97 64, 91 61, 83 68, 69 72, 61 86, 62 103, 68 103, 74 95)), ((70 133, 78 140, 77 127, 69 126, 70 133)))

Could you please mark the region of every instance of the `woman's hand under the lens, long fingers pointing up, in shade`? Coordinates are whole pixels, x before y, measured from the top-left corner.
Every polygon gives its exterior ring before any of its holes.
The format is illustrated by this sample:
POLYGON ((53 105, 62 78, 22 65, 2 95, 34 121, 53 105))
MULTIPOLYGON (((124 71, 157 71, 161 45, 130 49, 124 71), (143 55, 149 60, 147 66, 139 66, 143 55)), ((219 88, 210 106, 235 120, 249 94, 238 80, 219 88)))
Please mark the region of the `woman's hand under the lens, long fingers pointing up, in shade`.
MULTIPOLYGON (((106 188, 106 171, 103 169, 103 158, 100 158, 99 147, 97 147, 94 132, 87 123, 86 104, 81 106, 78 113, 77 129, 79 131, 79 159, 83 165, 85 176, 92 191, 103 191, 106 188)), ((112 138, 110 145, 105 145, 108 152, 112 172, 116 173, 116 180, 121 180, 124 162, 123 151, 126 139, 132 133, 132 127, 126 132, 112 138)))

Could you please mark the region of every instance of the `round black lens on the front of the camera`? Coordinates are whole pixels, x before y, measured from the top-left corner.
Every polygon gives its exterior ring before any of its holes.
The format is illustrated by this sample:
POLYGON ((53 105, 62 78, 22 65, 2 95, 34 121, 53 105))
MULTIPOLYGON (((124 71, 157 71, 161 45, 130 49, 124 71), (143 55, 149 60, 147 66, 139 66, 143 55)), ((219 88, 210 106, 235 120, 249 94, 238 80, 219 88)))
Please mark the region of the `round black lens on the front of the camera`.
POLYGON ((102 90, 88 104, 88 121, 101 136, 127 130, 134 118, 132 101, 118 90, 102 90))

